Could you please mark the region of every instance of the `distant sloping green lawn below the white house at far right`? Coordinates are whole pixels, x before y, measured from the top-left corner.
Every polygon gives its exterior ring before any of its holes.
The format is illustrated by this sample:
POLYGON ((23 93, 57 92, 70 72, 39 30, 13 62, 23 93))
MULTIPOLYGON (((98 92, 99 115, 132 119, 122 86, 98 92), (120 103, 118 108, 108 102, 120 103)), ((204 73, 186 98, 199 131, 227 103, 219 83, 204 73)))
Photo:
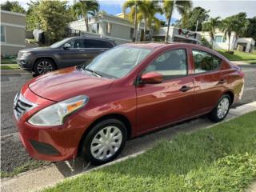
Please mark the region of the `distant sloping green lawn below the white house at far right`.
POLYGON ((256 60, 255 53, 246 53, 238 50, 234 50, 234 54, 225 53, 226 50, 217 50, 218 53, 222 54, 230 61, 244 61, 244 60, 256 60))

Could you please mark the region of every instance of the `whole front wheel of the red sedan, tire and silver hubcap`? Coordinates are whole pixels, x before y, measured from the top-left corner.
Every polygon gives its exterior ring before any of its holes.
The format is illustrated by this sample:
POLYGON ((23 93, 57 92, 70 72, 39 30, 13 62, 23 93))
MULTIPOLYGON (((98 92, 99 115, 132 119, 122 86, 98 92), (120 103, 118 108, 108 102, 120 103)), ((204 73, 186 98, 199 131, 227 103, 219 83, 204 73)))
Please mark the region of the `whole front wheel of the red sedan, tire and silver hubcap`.
POLYGON ((82 157, 97 166, 111 162, 121 153, 126 140, 127 131, 123 122, 114 118, 103 120, 86 135, 82 144, 82 157))

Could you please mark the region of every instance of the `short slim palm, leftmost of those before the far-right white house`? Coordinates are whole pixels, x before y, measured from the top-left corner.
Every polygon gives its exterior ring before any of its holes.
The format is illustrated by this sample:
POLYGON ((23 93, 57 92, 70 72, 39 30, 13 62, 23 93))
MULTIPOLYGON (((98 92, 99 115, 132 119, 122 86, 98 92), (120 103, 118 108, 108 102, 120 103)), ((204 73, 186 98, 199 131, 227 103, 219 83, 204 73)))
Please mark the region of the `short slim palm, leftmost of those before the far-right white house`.
POLYGON ((204 22, 202 25, 202 30, 203 31, 209 31, 210 33, 210 42, 211 42, 211 47, 213 48, 214 46, 214 34, 215 30, 220 27, 221 21, 220 17, 217 18, 210 18, 208 22, 204 22))

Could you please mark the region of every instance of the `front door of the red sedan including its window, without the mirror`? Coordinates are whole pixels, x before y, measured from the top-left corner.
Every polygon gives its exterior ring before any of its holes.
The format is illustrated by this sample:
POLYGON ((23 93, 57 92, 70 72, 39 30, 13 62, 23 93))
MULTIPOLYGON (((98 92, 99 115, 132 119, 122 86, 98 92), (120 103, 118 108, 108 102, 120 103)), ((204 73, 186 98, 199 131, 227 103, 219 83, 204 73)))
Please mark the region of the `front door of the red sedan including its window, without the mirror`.
POLYGON ((151 71, 162 74, 158 84, 136 88, 138 134, 177 122, 188 117, 193 109, 193 76, 188 74, 186 49, 169 50, 154 59, 143 74, 151 71))

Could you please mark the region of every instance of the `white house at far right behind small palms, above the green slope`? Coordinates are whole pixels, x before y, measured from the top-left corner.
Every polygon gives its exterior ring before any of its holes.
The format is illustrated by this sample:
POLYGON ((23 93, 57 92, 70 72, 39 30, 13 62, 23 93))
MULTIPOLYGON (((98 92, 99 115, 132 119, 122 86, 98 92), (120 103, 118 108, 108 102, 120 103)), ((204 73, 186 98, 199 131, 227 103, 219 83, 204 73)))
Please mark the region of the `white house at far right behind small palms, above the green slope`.
MULTIPOLYGON (((206 38, 207 42, 211 42, 210 32, 201 31, 198 32, 203 38, 206 38)), ((230 41, 228 37, 222 32, 222 30, 216 30, 214 34, 213 49, 214 50, 237 50, 238 45, 242 46, 242 50, 246 52, 251 52, 254 50, 255 41, 253 38, 237 38, 234 31, 231 32, 230 41)))

